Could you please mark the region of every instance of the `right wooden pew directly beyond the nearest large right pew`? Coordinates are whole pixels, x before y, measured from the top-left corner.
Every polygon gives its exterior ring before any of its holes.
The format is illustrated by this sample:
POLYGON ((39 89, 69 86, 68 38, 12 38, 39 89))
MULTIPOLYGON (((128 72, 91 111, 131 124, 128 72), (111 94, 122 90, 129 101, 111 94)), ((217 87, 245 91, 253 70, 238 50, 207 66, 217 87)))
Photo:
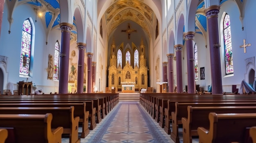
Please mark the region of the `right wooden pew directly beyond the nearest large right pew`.
MULTIPOLYGON (((182 118, 183 143, 192 143, 192 136, 198 136, 198 127, 209 130, 209 113, 256 113, 256 106, 192 107, 188 106, 187 118, 182 118)), ((256 134, 254 134, 255 136, 256 134)))

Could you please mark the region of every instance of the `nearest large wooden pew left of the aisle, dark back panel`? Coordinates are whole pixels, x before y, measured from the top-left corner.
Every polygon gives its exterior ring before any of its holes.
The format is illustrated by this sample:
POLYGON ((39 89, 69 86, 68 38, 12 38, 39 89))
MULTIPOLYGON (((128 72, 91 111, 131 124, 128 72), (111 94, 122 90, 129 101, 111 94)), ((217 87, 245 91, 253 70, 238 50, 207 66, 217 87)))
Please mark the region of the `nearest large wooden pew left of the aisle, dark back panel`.
POLYGON ((0 114, 1 128, 14 128, 16 143, 61 143, 63 127, 51 128, 52 114, 0 114))

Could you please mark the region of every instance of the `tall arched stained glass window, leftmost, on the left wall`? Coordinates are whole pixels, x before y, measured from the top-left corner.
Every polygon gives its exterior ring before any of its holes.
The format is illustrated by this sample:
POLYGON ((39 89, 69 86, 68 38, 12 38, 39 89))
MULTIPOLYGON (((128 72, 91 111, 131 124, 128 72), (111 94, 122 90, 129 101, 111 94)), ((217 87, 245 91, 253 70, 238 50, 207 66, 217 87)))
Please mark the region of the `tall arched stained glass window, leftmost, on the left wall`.
POLYGON ((23 22, 21 50, 20 50, 20 75, 30 73, 30 54, 31 54, 32 26, 29 19, 23 22))

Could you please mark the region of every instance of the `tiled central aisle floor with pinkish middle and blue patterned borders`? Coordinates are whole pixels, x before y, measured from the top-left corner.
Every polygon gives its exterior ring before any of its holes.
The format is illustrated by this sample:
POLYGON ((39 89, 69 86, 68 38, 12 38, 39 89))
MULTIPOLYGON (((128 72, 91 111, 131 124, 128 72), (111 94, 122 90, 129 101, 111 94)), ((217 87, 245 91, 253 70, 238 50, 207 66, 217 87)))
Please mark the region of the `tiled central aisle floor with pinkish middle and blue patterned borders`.
MULTIPOLYGON (((62 143, 69 143, 69 139, 63 138, 62 143)), ((81 143, 174 142, 138 102, 119 102, 85 139, 81 139, 81 143)))

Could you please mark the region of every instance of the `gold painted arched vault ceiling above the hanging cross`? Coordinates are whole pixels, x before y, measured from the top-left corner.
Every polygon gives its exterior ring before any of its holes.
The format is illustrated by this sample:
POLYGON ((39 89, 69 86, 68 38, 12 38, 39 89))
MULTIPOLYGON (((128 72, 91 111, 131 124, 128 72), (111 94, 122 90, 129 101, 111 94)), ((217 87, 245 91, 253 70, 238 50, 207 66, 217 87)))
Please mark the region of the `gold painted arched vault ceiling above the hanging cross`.
POLYGON ((108 29, 107 35, 110 34, 122 22, 131 20, 136 22, 151 37, 156 21, 154 11, 144 3, 144 0, 114 0, 110 7, 105 11, 103 17, 108 29))

